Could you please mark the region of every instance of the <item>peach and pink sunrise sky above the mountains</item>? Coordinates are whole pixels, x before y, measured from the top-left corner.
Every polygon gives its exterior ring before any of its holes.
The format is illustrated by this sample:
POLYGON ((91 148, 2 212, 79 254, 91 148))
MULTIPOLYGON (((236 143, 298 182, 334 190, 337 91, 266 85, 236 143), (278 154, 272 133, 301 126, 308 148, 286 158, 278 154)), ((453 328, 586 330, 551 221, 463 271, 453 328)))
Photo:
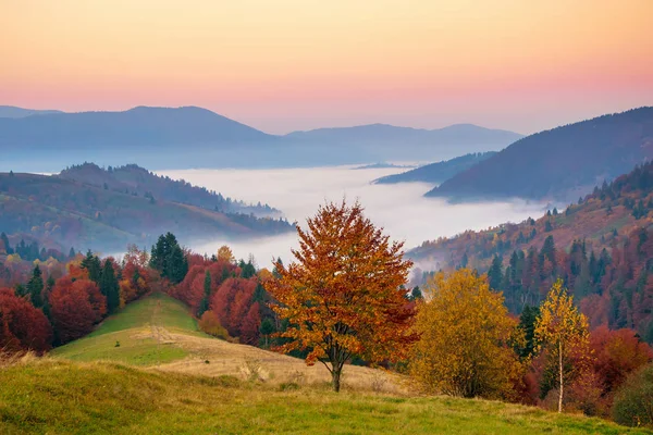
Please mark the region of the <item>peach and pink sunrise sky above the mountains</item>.
POLYGON ((0 104, 530 134, 653 104, 651 0, 0 0, 0 104))

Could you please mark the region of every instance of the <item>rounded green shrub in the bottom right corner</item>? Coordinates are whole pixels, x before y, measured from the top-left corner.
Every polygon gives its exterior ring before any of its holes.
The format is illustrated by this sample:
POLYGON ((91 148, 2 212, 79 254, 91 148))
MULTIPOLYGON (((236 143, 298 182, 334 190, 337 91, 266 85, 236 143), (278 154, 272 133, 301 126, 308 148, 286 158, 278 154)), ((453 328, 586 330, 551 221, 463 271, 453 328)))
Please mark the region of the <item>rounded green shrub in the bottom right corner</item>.
POLYGON ((615 396, 613 418, 629 426, 653 426, 653 364, 626 378, 615 396))

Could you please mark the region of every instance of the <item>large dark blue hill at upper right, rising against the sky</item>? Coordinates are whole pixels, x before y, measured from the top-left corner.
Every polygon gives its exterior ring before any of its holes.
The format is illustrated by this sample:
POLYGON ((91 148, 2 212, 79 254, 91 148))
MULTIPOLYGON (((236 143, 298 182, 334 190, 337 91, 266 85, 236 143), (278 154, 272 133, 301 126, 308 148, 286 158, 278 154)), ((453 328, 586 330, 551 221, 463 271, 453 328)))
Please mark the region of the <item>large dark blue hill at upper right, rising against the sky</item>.
POLYGON ((575 199, 651 158, 653 108, 634 109, 525 137, 427 196, 575 199))

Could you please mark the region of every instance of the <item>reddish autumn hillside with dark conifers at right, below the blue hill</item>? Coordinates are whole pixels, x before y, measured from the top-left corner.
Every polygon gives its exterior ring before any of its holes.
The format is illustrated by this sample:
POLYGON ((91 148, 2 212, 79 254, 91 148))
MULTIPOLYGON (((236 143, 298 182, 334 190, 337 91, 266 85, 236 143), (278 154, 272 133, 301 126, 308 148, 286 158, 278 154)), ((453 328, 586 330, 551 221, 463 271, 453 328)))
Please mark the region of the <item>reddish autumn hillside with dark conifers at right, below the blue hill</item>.
POLYGON ((653 343, 651 211, 653 163, 645 163, 566 210, 427 241, 410 257, 424 269, 488 272, 517 313, 562 277, 592 325, 632 327, 653 343))

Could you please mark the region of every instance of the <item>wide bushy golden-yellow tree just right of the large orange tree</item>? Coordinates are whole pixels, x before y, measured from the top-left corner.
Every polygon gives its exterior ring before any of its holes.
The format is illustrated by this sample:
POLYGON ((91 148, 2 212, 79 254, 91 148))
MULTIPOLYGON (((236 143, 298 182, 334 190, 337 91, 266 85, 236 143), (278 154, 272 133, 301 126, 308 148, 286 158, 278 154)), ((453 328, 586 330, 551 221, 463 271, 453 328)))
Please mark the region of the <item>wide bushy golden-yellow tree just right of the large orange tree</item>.
POLYGON ((469 269, 436 274, 423 295, 410 375, 431 394, 513 398, 522 369, 513 346, 522 334, 503 295, 469 269))

